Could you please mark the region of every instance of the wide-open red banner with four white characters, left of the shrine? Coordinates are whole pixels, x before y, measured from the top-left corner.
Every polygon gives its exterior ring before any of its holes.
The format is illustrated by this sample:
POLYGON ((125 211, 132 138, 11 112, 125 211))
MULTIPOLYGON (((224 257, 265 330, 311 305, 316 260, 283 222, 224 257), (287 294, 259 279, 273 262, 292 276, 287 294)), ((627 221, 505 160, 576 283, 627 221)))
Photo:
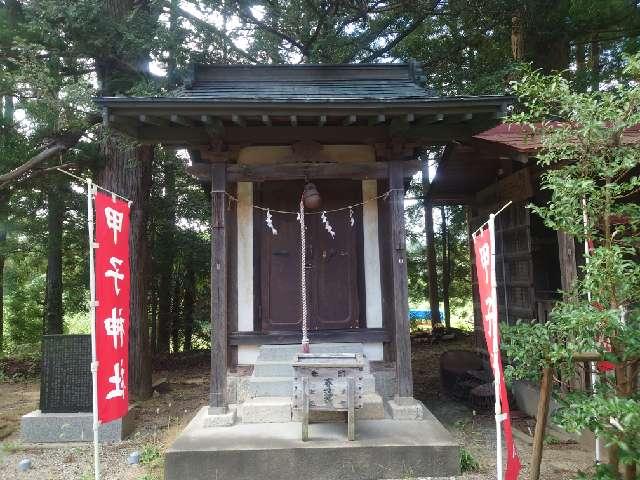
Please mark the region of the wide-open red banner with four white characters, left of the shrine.
POLYGON ((98 420, 129 408, 129 205, 95 195, 96 360, 98 420))

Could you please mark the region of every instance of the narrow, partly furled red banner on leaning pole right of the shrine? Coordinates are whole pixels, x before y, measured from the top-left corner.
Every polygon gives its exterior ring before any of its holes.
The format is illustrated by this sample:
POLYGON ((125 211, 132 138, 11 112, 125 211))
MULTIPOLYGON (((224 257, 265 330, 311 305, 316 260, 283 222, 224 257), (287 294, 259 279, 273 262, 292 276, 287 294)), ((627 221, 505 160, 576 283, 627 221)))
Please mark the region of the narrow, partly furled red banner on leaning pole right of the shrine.
MULTIPOLYGON (((507 447, 507 469, 504 474, 506 480, 516 480, 520 473, 520 458, 513 442, 511 432, 511 419, 509 418, 509 399, 507 397, 507 387, 504 382, 504 372, 502 369, 502 357, 500 348, 496 354, 493 351, 494 339, 500 345, 500 332, 498 329, 498 299, 495 289, 495 256, 493 255, 493 225, 482 230, 473 238, 476 274, 478 277, 478 290, 480 293, 480 308, 482 310, 482 325, 484 327, 484 338, 487 342, 489 360, 494 371, 494 377, 500 385, 500 405, 504 420, 502 421, 504 430, 505 446, 507 447), (497 357, 497 358, 496 358, 497 357), (496 372, 497 370, 497 372, 496 372), (497 373, 497 375, 496 375, 497 373)), ((498 448, 502 448, 501 445, 498 448)))

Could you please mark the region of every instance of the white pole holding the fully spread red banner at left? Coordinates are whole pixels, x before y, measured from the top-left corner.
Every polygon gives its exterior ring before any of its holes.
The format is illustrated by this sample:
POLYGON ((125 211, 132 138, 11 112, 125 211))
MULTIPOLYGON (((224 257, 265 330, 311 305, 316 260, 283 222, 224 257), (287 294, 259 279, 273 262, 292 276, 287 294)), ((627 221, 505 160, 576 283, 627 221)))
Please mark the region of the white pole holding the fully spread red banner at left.
POLYGON ((100 480, 100 450, 98 438, 98 362, 96 360, 96 272, 93 242, 93 184, 87 179, 87 226, 89 229, 89 291, 91 292, 91 378, 93 381, 93 471, 95 480, 100 480))

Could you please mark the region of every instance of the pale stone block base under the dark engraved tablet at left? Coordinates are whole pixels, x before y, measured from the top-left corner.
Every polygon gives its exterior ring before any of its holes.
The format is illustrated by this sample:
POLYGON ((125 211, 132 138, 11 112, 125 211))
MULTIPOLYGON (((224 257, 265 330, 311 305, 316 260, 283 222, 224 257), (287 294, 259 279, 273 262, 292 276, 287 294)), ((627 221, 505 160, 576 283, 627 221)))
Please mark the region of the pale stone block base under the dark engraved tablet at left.
MULTIPOLYGON (((98 429, 100 443, 124 440, 133 431, 133 415, 104 423, 98 429)), ((93 415, 88 413, 42 413, 34 410, 20 420, 20 434, 26 443, 93 442, 93 415)))

